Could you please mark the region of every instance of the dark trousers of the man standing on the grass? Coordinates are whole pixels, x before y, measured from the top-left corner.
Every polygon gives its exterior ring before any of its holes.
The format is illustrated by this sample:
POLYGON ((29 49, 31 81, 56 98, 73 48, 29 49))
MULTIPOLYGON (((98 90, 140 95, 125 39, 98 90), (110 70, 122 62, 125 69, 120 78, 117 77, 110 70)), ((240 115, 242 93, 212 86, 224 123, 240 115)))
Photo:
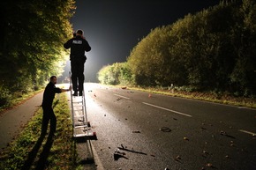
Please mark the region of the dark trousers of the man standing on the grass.
POLYGON ((42 107, 43 115, 41 122, 41 136, 44 136, 47 132, 48 123, 50 121, 49 134, 53 135, 56 131, 56 115, 53 112, 52 107, 42 107))

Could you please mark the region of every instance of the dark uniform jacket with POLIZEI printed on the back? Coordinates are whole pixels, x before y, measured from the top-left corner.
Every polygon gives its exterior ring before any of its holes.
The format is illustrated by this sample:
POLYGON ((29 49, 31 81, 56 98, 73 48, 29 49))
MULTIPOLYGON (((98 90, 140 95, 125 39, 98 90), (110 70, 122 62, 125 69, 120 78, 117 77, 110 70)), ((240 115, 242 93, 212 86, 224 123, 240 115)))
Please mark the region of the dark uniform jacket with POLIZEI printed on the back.
POLYGON ((71 48, 71 60, 83 58, 85 51, 91 50, 89 43, 79 35, 64 43, 64 48, 71 48))

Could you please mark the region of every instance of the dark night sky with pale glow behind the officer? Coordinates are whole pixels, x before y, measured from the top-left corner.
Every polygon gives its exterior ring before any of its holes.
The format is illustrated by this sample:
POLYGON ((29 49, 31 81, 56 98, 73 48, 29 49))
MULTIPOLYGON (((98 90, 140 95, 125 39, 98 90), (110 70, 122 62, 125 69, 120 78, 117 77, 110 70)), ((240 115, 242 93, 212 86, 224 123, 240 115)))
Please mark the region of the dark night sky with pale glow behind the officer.
MULTIPOLYGON (((151 29, 167 26, 219 0, 77 0, 71 20, 82 29, 92 50, 85 64, 86 81, 97 82, 104 65, 122 63, 151 29)), ((70 63, 68 62, 69 66, 70 63)), ((66 67, 65 70, 69 68, 66 67)))

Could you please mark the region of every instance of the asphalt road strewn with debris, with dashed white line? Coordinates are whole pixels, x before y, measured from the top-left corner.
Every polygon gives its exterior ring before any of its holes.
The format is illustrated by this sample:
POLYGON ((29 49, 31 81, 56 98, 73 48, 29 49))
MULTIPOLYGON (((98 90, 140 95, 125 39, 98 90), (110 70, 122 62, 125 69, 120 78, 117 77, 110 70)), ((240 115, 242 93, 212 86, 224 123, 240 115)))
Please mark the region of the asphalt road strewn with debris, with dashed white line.
POLYGON ((256 169, 256 110, 85 85, 98 169, 256 169))

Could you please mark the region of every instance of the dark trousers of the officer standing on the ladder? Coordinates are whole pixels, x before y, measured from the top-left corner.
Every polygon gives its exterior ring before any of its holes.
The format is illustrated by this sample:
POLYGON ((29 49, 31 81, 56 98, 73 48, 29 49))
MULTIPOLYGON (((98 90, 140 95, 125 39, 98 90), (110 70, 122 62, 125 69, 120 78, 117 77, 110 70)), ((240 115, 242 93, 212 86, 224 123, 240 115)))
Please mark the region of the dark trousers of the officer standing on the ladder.
POLYGON ((85 80, 84 76, 84 63, 85 59, 76 59, 72 60, 72 86, 73 91, 82 92, 83 91, 83 84, 85 80))

